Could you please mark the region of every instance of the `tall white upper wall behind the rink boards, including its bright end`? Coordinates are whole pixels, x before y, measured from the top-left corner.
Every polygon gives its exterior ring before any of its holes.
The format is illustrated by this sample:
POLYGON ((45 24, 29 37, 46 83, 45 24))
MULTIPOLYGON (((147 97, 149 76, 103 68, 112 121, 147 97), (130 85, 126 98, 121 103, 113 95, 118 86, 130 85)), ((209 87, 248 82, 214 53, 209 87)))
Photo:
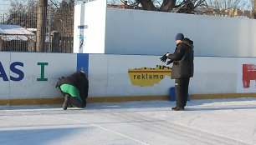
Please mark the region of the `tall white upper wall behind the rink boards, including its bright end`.
POLYGON ((105 0, 74 10, 74 52, 163 55, 174 52, 182 32, 194 41, 195 56, 256 56, 255 19, 111 8, 105 0))

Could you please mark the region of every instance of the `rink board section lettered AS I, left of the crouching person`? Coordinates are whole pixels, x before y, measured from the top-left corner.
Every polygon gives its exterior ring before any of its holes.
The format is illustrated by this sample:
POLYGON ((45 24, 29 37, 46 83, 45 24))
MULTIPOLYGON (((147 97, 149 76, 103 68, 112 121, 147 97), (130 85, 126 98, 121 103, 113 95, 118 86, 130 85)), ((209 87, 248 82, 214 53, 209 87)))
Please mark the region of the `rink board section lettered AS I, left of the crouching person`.
POLYGON ((58 78, 88 67, 79 62, 86 58, 88 54, 0 52, 0 100, 58 98, 58 78))

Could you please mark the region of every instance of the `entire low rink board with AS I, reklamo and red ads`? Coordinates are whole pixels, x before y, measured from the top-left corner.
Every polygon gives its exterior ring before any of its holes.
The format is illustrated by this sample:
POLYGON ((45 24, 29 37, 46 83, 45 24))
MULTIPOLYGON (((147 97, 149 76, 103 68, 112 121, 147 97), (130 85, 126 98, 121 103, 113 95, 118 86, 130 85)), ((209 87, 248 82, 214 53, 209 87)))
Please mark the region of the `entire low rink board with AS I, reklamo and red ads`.
MULTIPOLYGON (((59 77, 83 67, 88 74, 89 100, 168 98, 174 87, 170 70, 160 56, 0 52, 0 100, 62 98, 55 88, 59 77), (169 71, 169 72, 168 72, 169 71), (169 76, 168 76, 169 75, 169 76), (136 98, 135 98, 136 97, 136 98)), ((253 57, 195 57, 192 97, 254 96, 256 60, 253 57), (226 95, 225 95, 226 94, 226 95), (249 95, 249 96, 248 96, 249 95)), ((172 67, 172 66, 169 66, 172 67)), ((33 102, 33 100, 30 100, 33 102)))

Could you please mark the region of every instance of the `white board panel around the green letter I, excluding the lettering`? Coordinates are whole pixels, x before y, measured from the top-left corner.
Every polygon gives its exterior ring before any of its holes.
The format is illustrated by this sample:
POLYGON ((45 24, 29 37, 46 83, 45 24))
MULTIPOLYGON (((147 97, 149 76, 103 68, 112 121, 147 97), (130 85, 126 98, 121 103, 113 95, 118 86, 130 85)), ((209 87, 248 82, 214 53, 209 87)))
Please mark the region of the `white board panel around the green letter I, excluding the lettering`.
POLYGON ((76 54, 13 52, 11 62, 23 62, 23 67, 18 68, 23 71, 24 77, 21 81, 10 81, 10 98, 60 97, 59 90, 55 88, 58 78, 76 71, 76 54), (41 78, 38 62, 48 62, 44 66, 47 81, 38 81, 41 78))

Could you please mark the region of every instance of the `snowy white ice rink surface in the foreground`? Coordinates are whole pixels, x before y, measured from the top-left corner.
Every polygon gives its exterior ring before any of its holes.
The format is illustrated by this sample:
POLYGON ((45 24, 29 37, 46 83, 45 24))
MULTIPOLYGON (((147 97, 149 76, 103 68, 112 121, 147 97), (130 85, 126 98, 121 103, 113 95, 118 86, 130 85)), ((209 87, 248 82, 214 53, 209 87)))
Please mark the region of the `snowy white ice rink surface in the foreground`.
POLYGON ((256 144, 256 98, 89 103, 84 109, 0 106, 0 144, 256 144))

